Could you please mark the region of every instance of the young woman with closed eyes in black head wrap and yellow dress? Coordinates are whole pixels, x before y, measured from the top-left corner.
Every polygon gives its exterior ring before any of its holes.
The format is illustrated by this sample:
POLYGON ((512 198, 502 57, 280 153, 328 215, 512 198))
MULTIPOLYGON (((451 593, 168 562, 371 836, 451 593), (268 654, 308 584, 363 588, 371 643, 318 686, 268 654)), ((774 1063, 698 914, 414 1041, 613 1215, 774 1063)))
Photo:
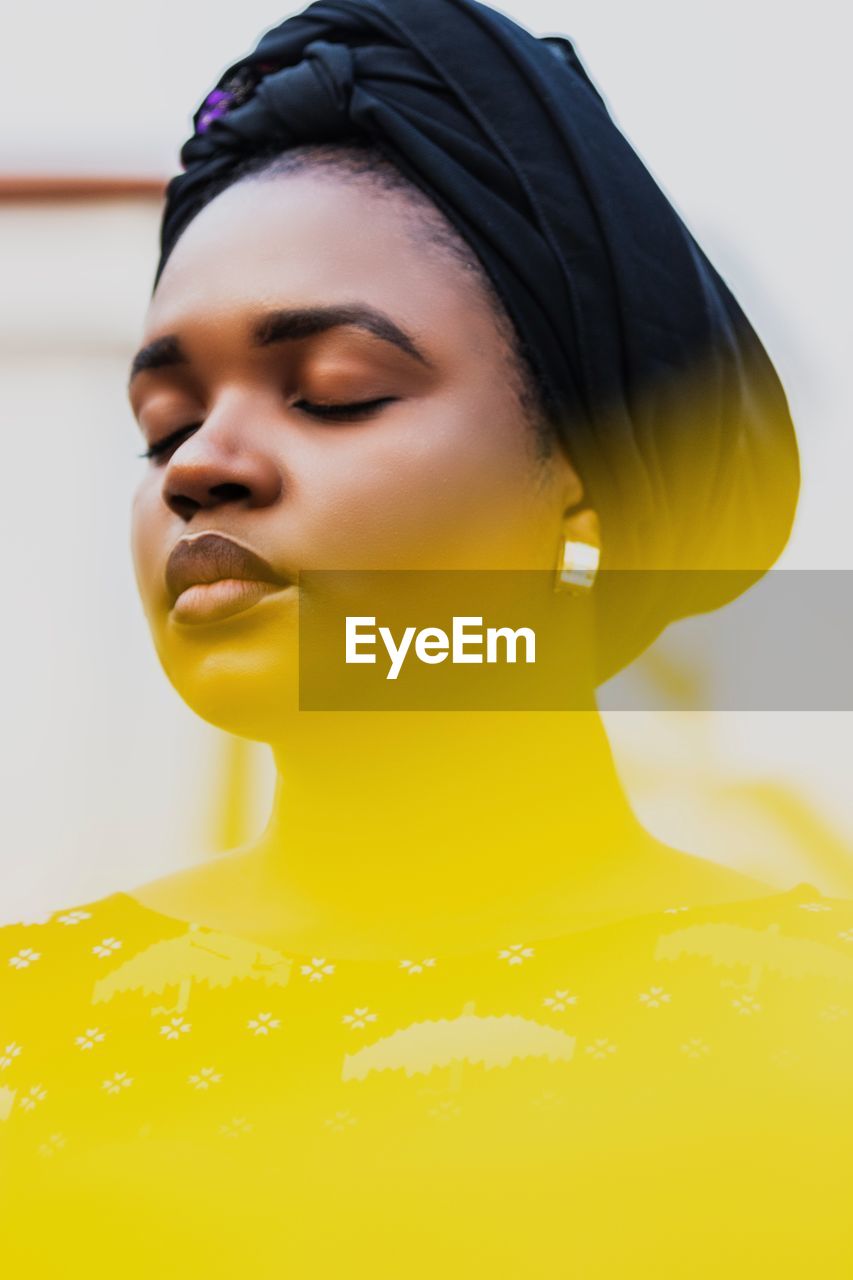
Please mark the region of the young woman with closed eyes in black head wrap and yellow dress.
POLYGON ((279 786, 251 847, 3 931, 10 1258, 845 1274, 853 906, 653 840, 589 709, 784 544, 748 321, 571 46, 469 0, 321 0, 182 157, 137 579, 279 786), (567 620, 567 700, 306 684, 324 590, 364 620, 365 581, 512 575, 567 620))

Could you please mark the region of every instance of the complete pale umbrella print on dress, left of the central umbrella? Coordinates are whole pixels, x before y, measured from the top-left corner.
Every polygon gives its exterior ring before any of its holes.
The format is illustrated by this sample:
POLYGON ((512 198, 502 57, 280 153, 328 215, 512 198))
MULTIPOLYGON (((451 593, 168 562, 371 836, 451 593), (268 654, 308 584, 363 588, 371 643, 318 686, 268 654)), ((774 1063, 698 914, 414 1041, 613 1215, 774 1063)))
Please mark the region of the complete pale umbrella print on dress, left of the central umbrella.
POLYGON ((286 987, 291 969, 292 961, 272 947, 191 924, 186 933, 154 942, 96 982, 92 1004, 127 991, 150 996, 177 987, 174 1007, 158 1005, 151 1012, 183 1014, 193 982, 229 987, 232 982, 251 979, 268 987, 286 987))

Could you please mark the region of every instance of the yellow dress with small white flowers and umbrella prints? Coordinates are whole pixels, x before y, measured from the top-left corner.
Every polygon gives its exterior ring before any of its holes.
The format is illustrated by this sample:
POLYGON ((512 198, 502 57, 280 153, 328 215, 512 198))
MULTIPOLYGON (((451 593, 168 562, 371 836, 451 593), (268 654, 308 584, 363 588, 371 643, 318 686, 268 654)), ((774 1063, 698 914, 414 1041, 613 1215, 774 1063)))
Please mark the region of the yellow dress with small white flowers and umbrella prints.
POLYGON ((853 904, 286 955, 0 929, 4 1276, 849 1277, 853 904))

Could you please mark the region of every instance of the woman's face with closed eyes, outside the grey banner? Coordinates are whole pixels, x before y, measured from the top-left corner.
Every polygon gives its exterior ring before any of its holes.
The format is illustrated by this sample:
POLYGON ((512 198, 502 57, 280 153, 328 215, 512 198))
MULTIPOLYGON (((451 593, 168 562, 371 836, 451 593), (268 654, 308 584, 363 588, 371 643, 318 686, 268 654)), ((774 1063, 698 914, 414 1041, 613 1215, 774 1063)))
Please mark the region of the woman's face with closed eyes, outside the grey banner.
POLYGON ((155 645, 199 714, 247 736, 273 740, 295 705, 300 573, 551 570, 581 495, 561 449, 542 458, 474 273, 364 180, 218 196, 167 264, 134 369, 155 645))

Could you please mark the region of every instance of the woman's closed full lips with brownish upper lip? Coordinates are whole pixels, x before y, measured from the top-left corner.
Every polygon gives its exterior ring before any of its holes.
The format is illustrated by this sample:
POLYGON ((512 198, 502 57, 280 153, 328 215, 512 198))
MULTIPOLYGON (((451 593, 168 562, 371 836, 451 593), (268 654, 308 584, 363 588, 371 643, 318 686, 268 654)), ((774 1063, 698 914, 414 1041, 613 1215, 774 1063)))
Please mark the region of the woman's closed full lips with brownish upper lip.
POLYGON ((182 538, 167 561, 165 582, 181 622, 209 622, 251 608, 292 580, 224 534, 182 538))

